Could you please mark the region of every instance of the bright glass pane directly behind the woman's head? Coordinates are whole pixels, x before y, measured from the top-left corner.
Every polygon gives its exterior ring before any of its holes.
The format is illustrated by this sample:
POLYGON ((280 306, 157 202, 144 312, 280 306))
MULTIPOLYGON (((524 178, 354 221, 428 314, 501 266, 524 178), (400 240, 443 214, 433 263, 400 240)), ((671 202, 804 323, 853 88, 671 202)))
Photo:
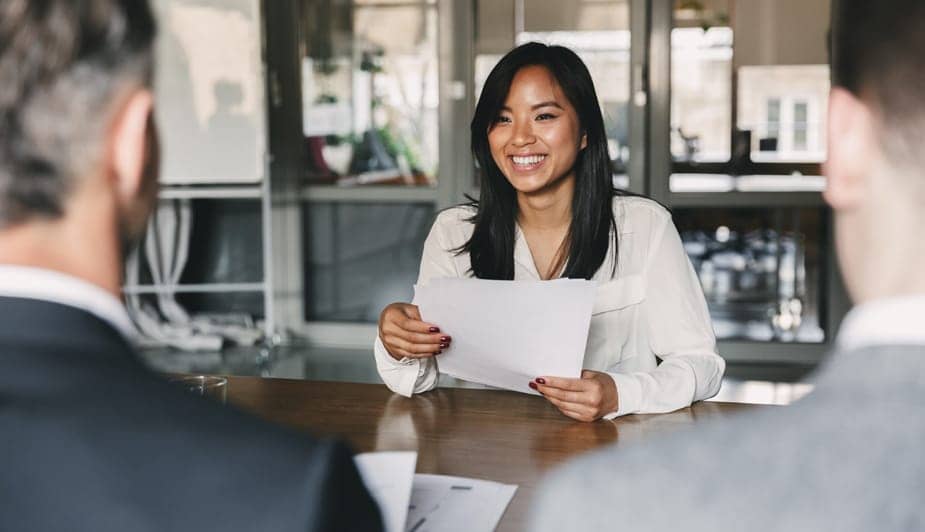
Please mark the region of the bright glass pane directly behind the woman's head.
POLYGON ((574 50, 588 66, 604 115, 614 185, 629 162, 630 32, 626 0, 478 0, 475 90, 501 56, 531 41, 574 50))

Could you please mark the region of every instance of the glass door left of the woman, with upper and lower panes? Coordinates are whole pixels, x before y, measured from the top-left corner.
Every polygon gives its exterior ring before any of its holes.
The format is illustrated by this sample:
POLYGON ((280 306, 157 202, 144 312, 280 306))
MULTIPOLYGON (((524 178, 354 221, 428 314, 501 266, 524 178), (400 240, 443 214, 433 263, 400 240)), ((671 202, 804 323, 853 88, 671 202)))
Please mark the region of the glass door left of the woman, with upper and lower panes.
MULTIPOLYGON (((443 203, 438 17, 445 3, 299 6, 304 320, 315 329, 369 329, 385 305, 410 300, 443 203)), ((368 330, 361 335, 371 341, 368 330)))

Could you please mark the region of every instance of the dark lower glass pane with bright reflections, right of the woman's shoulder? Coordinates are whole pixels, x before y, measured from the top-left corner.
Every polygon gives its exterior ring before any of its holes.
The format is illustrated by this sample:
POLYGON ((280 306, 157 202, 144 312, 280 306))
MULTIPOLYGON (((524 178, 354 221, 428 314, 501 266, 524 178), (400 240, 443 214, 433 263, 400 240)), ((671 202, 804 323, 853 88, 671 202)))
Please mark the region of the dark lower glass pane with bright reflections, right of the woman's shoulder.
POLYGON ((821 209, 677 209, 718 339, 822 342, 821 209))

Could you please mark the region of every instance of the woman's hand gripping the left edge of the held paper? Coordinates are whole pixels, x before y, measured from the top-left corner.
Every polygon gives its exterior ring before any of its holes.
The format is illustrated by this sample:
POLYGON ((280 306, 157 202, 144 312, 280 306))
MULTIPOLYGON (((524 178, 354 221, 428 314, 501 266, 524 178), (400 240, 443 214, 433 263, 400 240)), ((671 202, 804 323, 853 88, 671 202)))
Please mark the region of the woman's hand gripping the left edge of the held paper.
POLYGON ((436 325, 421 321, 416 305, 392 303, 379 315, 379 338, 395 360, 439 355, 451 338, 436 325))

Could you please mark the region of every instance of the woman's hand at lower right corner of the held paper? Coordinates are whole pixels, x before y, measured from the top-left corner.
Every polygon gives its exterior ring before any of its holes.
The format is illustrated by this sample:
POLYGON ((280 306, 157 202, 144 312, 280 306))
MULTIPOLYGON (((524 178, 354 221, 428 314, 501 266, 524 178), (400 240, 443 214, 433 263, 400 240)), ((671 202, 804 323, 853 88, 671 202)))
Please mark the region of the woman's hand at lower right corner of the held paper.
POLYGON ((580 379, 537 377, 530 387, 563 414, 578 421, 594 421, 615 412, 620 405, 613 379, 600 371, 586 369, 580 379))

